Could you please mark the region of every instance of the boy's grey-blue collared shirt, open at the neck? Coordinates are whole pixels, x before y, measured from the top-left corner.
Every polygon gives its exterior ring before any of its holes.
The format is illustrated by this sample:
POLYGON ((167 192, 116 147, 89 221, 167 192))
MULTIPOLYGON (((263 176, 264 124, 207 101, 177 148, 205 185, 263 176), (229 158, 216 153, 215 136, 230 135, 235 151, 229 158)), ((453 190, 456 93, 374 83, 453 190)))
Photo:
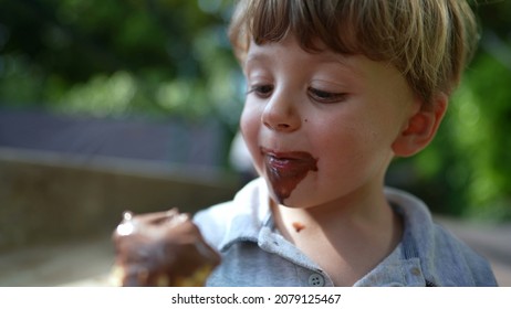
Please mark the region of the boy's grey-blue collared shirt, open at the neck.
MULTIPOLYGON (((401 242, 354 286, 497 286, 489 263, 435 224, 420 200, 390 188, 385 194, 403 217, 401 242)), ((207 286, 333 286, 321 267, 274 228, 262 179, 194 220, 222 254, 207 286)))

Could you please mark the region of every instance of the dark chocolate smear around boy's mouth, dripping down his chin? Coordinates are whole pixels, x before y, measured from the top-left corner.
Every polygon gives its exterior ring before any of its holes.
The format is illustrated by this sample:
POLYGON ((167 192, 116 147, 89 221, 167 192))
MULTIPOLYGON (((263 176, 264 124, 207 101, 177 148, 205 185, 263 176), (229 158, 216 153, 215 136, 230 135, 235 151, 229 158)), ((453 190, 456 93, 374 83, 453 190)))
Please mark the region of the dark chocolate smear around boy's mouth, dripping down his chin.
POLYGON ((317 159, 304 151, 264 153, 264 164, 268 179, 281 204, 309 171, 317 171, 317 159))

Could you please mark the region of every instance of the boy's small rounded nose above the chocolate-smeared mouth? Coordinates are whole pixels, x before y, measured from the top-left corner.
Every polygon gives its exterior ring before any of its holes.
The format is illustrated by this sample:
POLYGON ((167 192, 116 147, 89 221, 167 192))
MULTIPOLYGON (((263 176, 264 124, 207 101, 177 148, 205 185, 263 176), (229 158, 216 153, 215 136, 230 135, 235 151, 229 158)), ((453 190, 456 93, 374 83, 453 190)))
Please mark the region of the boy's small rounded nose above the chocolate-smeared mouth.
POLYGON ((262 124, 275 131, 294 131, 300 128, 299 110, 292 99, 275 93, 267 103, 261 116, 262 124))

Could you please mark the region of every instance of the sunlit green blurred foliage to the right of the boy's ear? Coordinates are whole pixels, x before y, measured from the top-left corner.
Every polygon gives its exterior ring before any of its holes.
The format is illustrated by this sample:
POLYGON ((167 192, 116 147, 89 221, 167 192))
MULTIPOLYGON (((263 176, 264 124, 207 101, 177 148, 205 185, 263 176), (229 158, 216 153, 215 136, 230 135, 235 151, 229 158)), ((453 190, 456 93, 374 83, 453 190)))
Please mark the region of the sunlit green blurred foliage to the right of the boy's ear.
POLYGON ((437 212, 511 220, 510 87, 511 67, 481 52, 436 139, 409 162, 397 162, 411 166, 417 181, 410 190, 426 191, 418 194, 429 196, 437 212))

